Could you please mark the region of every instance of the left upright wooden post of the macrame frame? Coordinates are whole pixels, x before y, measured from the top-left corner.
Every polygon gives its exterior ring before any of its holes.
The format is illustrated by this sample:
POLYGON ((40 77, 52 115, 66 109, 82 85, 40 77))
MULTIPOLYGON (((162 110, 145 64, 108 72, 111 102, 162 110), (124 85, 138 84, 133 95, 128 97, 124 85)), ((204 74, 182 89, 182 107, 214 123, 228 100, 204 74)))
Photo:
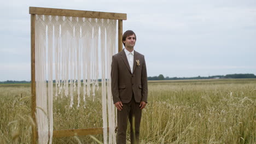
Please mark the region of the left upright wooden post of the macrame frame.
POLYGON ((36 121, 36 69, 35 69, 35 27, 36 15, 31 15, 31 117, 34 121, 32 124, 31 143, 37 141, 37 121, 36 121))

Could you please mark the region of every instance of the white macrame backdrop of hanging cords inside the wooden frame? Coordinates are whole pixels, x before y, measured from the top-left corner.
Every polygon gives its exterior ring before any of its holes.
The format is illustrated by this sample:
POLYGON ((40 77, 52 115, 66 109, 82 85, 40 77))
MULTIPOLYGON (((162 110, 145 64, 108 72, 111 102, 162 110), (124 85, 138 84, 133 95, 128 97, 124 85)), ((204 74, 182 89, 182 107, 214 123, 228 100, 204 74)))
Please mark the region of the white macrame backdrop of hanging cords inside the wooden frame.
POLYGON ((78 99, 76 105, 80 107, 81 95, 84 108, 86 97, 92 95, 95 99, 99 64, 103 140, 105 144, 116 143, 114 130, 117 118, 110 87, 110 64, 115 53, 116 35, 117 20, 36 15, 36 119, 39 143, 52 143, 53 140, 53 95, 55 99, 69 97, 70 107, 74 105, 74 98, 78 99))

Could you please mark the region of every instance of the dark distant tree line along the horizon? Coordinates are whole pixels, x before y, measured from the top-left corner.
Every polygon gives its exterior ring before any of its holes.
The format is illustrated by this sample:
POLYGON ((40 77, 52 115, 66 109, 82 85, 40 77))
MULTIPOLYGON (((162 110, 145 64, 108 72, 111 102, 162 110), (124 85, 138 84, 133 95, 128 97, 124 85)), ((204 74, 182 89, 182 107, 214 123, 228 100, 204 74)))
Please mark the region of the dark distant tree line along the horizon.
MULTIPOLYGON (((196 79, 253 79, 256 78, 254 74, 229 74, 229 75, 214 75, 214 76, 196 76, 196 77, 164 77, 160 74, 159 76, 149 76, 148 80, 196 80, 196 79)), ((101 81, 99 79, 98 81, 101 81)), ((30 83, 31 81, 0 81, 1 83, 30 83)), ((53 81, 55 82, 55 80, 53 81)), ((83 82, 83 80, 81 81, 83 82)))

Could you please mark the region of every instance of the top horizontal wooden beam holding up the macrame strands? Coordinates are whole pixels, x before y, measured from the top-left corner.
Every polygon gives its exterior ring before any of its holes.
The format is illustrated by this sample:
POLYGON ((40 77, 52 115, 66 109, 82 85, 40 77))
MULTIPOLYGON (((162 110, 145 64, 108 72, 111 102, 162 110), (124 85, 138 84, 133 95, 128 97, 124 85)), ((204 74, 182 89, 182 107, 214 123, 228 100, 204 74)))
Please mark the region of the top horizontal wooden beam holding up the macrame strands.
POLYGON ((113 19, 113 20, 127 19, 127 14, 122 14, 122 13, 106 13, 106 12, 100 12, 100 11, 53 9, 53 8, 39 8, 39 7, 30 7, 30 14, 89 17, 89 18, 113 19))

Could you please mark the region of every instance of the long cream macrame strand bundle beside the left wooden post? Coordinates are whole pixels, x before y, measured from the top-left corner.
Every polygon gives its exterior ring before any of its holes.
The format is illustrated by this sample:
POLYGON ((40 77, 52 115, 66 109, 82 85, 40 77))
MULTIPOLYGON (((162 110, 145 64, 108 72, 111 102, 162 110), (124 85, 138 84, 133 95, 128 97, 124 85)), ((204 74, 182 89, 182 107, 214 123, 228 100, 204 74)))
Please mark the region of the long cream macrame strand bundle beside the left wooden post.
POLYGON ((46 89, 46 25, 44 15, 36 15, 36 104, 38 143, 48 143, 48 109, 46 89))

